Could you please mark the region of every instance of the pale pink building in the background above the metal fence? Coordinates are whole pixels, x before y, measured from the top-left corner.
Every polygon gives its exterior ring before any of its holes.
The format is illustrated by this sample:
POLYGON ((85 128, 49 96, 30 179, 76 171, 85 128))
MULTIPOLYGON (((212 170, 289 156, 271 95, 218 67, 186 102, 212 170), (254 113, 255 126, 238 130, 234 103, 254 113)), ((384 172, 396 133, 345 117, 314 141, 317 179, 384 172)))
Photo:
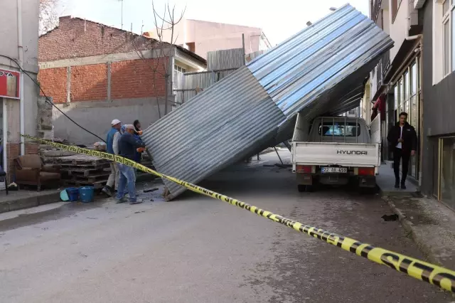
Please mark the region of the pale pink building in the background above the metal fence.
MULTIPOLYGON (((156 36, 156 29, 153 32, 156 36)), ((163 36, 164 41, 171 43, 171 31, 163 31, 163 36)), ((173 37, 173 43, 202 58, 207 58, 207 53, 215 50, 245 47, 245 53, 254 53, 272 48, 261 28, 186 18, 176 24, 173 37)))

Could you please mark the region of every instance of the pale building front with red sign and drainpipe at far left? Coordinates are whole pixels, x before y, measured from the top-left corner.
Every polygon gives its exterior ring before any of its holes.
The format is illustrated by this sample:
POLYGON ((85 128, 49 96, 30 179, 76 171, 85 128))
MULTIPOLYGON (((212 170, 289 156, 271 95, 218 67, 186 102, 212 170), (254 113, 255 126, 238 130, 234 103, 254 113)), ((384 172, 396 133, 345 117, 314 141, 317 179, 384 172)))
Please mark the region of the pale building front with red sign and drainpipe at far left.
POLYGON ((38 1, 2 1, 0 9, 1 166, 9 172, 21 154, 38 153, 21 133, 36 136, 38 86, 38 1), (21 69, 28 75, 21 72, 21 69), (30 77, 28 77, 30 76, 30 77))

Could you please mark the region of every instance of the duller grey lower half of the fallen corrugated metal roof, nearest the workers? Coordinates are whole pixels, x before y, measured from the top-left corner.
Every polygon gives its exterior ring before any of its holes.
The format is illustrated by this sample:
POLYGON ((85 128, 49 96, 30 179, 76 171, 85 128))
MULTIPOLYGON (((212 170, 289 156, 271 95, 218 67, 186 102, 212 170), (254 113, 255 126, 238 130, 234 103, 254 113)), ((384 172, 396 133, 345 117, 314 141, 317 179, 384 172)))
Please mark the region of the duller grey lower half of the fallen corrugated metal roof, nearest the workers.
MULTIPOLYGON (((143 139, 158 171, 197 183, 272 140, 283 119, 243 67, 159 119, 144 131, 143 139)), ((168 198, 184 191, 165 182, 168 198)))

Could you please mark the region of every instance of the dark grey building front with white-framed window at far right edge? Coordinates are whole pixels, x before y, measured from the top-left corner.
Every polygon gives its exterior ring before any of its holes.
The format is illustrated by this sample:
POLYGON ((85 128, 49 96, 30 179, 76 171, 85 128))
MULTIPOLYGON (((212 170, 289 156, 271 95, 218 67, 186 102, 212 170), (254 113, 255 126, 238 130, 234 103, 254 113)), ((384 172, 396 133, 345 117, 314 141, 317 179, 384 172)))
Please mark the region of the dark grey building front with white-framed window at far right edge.
POLYGON ((421 2, 425 154, 422 191, 455 210, 455 3, 421 2))

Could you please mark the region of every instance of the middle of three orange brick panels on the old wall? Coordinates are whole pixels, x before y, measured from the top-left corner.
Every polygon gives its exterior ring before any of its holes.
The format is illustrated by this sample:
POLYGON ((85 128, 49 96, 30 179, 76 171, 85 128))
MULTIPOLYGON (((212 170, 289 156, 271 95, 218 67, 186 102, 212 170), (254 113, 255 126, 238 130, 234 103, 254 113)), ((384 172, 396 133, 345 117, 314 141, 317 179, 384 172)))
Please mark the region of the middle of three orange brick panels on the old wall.
POLYGON ((71 67, 71 101, 107 100, 107 65, 71 67))

